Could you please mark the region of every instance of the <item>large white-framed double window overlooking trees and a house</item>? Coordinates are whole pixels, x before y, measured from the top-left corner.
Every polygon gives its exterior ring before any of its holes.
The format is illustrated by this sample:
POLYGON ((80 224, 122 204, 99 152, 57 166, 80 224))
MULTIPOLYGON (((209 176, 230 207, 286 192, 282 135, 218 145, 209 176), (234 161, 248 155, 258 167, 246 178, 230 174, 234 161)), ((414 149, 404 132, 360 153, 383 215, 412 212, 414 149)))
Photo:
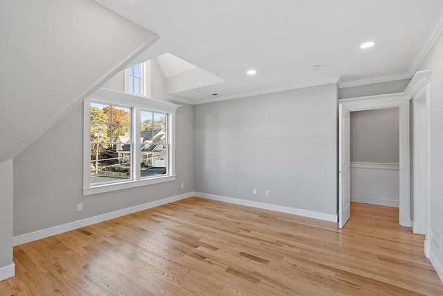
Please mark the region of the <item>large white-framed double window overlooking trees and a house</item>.
POLYGON ((179 105, 99 89, 84 102, 84 195, 175 180, 179 105))

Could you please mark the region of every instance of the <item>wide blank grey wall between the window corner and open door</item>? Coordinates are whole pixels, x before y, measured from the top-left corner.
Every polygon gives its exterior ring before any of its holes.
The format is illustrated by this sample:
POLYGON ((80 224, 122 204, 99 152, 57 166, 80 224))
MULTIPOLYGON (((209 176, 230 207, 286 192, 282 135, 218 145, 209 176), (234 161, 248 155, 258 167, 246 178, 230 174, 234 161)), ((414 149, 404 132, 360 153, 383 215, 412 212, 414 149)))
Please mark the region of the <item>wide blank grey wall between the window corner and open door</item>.
POLYGON ((195 191, 335 216, 336 94, 331 84, 196 105, 195 191))

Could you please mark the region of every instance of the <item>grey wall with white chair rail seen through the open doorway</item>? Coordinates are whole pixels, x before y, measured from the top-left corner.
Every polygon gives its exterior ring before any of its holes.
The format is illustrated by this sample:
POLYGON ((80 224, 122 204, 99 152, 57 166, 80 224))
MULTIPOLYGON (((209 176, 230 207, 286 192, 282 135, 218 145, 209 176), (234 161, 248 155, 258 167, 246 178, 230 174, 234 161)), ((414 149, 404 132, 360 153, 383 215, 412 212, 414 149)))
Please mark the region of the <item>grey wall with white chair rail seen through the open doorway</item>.
POLYGON ((399 110, 350 112, 351 202, 399 208, 399 110))

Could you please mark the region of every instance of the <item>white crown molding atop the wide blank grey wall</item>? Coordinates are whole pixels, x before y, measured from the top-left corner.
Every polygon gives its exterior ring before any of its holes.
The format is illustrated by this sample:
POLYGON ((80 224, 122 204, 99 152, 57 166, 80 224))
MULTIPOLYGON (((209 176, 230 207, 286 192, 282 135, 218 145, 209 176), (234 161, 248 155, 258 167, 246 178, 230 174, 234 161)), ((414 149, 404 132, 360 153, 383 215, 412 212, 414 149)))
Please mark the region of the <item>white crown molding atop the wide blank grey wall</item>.
POLYGON ((289 85, 279 85, 277 87, 269 87, 266 89, 258 89, 252 92, 242 92, 239 94, 233 94, 228 96, 219 96, 217 98, 210 98, 208 100, 201 99, 198 101, 195 101, 195 104, 204 104, 204 103, 213 103, 218 101, 226 101, 226 100, 232 100, 233 98, 244 98, 246 96, 257 96, 260 94, 271 94, 273 92, 284 92, 291 89, 301 89, 305 87, 314 87, 318 85, 327 85, 330 83, 337 83, 340 79, 340 76, 332 76, 327 78, 320 78, 316 80, 309 80, 304 82, 297 82, 297 83, 291 83, 289 85))

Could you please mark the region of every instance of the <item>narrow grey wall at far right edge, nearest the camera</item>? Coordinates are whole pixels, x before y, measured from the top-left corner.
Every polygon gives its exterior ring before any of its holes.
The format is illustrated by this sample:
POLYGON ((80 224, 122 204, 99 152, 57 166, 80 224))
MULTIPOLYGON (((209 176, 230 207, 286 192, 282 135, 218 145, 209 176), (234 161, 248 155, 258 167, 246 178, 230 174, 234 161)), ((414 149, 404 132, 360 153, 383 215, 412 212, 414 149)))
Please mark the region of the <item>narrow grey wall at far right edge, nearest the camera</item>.
POLYGON ((443 281, 443 34, 419 67, 432 69, 430 100, 431 262, 443 281))

